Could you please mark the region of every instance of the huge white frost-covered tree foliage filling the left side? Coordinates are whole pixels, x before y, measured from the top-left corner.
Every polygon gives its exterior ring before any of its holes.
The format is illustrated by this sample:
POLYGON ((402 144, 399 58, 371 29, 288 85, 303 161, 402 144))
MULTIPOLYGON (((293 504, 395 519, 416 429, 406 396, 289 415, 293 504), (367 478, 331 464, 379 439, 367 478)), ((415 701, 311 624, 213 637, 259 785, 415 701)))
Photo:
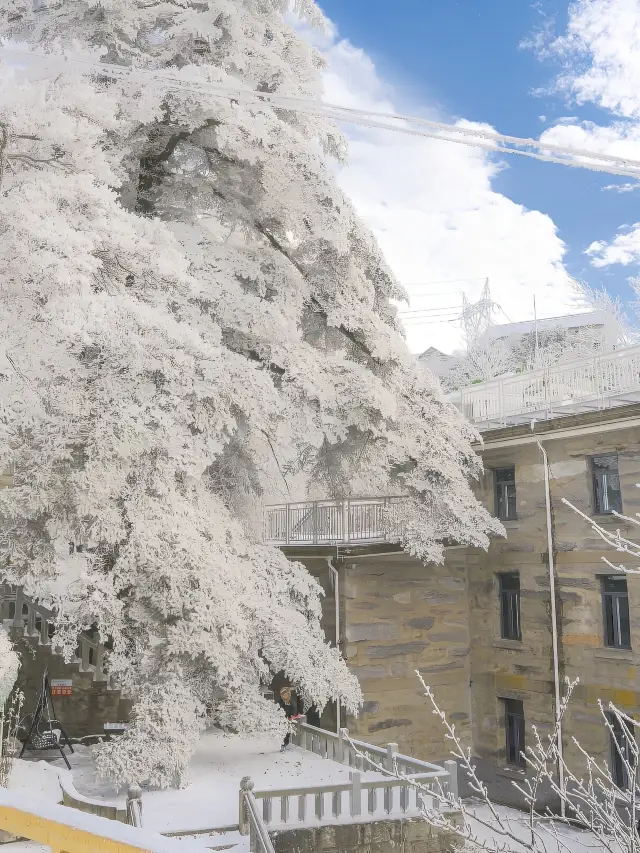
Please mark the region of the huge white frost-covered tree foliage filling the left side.
MULTIPOLYGON (((288 9, 0 0, 0 36, 317 96, 288 9)), ((425 559, 498 526, 470 490, 473 433, 407 352, 398 288, 327 166, 339 134, 34 65, 4 70, 0 146, 1 555, 31 594, 68 580, 69 650, 89 627, 112 644, 136 710, 101 771, 179 782, 208 722, 275 725, 260 686, 278 671, 305 705, 354 711, 319 586, 255 535, 270 461, 293 445, 331 495, 408 494, 425 559)))

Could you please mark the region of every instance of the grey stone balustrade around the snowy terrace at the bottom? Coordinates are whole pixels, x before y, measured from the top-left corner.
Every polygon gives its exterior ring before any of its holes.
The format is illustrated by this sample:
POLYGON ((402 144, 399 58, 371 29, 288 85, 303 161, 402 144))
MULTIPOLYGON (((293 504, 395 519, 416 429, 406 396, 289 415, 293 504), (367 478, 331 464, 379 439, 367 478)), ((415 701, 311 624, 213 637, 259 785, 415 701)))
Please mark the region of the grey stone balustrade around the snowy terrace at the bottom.
MULTIPOLYGON (((445 767, 440 767, 402 755, 396 744, 387 744, 385 748, 373 746, 350 739, 346 729, 334 734, 304 721, 297 724, 295 742, 317 755, 352 767, 350 781, 255 790, 251 779, 245 777, 240 790, 241 834, 255 832, 268 837, 268 830, 276 827, 294 829, 345 820, 416 817, 422 812, 425 800, 432 800, 427 804, 430 808, 437 806, 439 799, 430 798, 429 791, 457 799, 455 761, 447 761, 445 767), (384 775, 377 768, 395 772, 400 778, 384 775), (252 821, 256 828, 252 828, 252 821)), ((266 846, 257 849, 260 853, 271 853, 266 846)))

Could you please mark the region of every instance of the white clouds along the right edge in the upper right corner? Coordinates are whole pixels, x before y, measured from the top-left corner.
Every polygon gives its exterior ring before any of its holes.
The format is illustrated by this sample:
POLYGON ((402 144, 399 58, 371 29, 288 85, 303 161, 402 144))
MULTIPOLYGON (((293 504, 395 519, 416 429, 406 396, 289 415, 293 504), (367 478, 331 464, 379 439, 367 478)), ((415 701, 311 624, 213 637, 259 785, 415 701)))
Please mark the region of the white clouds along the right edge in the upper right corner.
MULTIPOLYGON (((558 90, 610 111, 615 119, 606 127, 574 119, 541 139, 640 160, 640 0, 576 0, 566 34, 548 52, 564 63, 558 90)), ((621 182, 606 189, 630 192, 638 186, 621 182)), ((586 254, 595 267, 640 263, 640 223, 593 243, 586 254)))

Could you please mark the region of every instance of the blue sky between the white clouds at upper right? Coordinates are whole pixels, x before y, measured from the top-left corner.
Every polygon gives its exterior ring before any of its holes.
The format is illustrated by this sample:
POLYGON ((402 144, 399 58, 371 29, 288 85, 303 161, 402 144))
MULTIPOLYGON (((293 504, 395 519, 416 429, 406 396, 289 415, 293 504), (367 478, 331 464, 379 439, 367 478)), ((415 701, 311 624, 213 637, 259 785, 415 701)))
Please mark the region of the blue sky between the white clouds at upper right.
MULTIPOLYGON (((591 2, 611 6, 619 0, 591 2)), ((320 0, 320 5, 338 30, 336 41, 365 53, 398 109, 487 122, 515 136, 539 137, 566 117, 576 126, 612 121, 597 98, 576 104, 556 91, 562 71, 556 56, 541 59, 522 46, 542 28, 547 35, 564 34, 568 0, 320 0)), ((588 56, 575 58, 571 73, 578 76, 585 63, 588 56)), ((492 176, 492 190, 553 220, 566 246, 563 264, 569 275, 631 299, 628 278, 637 274, 636 263, 594 267, 584 254, 592 242, 610 243, 622 226, 640 220, 637 192, 604 189, 627 179, 518 157, 506 165, 492 176)), ((484 270, 478 268, 478 275, 484 270)), ((551 302, 546 313, 553 313, 551 302)))

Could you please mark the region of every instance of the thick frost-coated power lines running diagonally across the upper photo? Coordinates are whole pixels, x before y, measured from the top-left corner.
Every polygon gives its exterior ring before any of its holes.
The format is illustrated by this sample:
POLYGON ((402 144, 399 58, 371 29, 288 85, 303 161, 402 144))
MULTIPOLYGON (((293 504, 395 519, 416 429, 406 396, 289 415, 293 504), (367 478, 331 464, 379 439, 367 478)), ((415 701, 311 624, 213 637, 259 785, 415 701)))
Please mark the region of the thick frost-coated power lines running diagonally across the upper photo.
POLYGON ((579 148, 553 145, 536 139, 507 136, 480 128, 459 127, 457 125, 449 125, 416 116, 405 116, 396 113, 377 113, 374 111, 358 110, 310 99, 256 92, 241 86, 226 86, 203 80, 185 79, 165 71, 131 68, 106 62, 87 62, 79 59, 71 59, 59 54, 37 54, 35 52, 8 48, 4 45, 0 48, 0 53, 13 56, 14 58, 18 57, 23 61, 26 60, 32 63, 39 61, 41 64, 48 66, 57 64, 59 67, 62 66, 63 69, 71 65, 76 65, 92 73, 112 79, 124 80, 125 82, 136 82, 136 80, 144 81, 145 83, 149 81, 162 82, 168 89, 200 91, 204 94, 222 97, 231 101, 243 101, 246 104, 254 104, 256 106, 269 104, 274 108, 282 108, 310 115, 321 115, 334 121, 349 122, 362 127, 378 128, 410 136, 427 137, 442 142, 470 145, 490 151, 491 153, 517 154, 521 157, 529 157, 547 163, 558 163, 563 166, 585 168, 612 175, 640 178, 640 161, 638 160, 600 154, 595 151, 587 151, 579 148), (390 122, 395 122, 395 124, 390 124, 390 122), (403 124, 399 125, 397 122, 402 122, 403 124), (407 127, 407 123, 415 125, 415 127, 407 127), (573 159, 576 157, 580 159, 573 159))

